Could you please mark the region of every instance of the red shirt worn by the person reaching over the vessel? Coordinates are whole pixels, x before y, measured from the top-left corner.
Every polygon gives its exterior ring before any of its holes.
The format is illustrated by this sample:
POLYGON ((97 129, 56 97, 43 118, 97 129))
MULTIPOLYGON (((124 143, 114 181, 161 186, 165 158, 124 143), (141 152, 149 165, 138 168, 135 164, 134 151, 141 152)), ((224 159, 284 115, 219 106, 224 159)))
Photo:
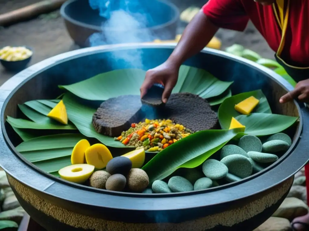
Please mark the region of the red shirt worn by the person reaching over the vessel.
MULTIPOLYGON (((243 31, 249 19, 266 39, 269 47, 277 51, 281 41, 281 28, 273 6, 262 6, 253 0, 209 0, 203 11, 214 25, 243 31)), ((309 1, 291 0, 285 46, 281 58, 298 67, 309 66, 309 1)))

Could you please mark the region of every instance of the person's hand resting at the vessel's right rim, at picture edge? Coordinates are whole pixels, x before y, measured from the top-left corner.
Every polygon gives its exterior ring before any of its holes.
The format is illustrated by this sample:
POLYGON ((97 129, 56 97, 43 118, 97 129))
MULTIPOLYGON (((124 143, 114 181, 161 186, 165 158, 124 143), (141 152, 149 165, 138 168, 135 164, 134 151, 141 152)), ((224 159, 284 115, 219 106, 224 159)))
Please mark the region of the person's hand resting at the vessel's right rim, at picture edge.
POLYGON ((286 103, 296 98, 301 102, 309 103, 309 79, 299 81, 294 90, 283 95, 279 102, 286 103))

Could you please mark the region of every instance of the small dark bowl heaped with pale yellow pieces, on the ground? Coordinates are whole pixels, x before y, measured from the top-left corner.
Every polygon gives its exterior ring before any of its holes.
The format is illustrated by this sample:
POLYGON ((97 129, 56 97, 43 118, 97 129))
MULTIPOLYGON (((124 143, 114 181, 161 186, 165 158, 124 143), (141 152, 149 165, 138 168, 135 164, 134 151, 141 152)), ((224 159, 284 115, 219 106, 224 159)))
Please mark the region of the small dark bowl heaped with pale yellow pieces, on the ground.
POLYGON ((21 71, 30 62, 32 54, 29 47, 6 46, 0 49, 0 63, 8 71, 21 71))

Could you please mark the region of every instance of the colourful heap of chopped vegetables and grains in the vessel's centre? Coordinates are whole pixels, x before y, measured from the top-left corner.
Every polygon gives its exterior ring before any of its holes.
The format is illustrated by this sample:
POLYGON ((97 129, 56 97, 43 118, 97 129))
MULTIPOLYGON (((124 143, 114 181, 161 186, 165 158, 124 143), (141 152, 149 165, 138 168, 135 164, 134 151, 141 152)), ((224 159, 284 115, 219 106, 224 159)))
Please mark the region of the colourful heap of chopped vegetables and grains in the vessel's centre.
POLYGON ((136 149, 144 148, 148 152, 159 152, 193 132, 171 120, 148 120, 131 124, 131 128, 115 137, 115 140, 136 149))

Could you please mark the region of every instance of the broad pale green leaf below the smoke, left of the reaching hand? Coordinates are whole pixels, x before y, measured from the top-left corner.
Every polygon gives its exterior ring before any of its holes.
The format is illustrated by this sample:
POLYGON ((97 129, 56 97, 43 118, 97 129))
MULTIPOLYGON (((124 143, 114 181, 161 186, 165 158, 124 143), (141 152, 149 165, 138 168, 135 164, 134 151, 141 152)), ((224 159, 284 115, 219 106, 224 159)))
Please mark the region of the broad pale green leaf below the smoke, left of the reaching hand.
POLYGON ((146 71, 140 69, 121 69, 59 87, 82 99, 104 101, 119 95, 139 95, 145 75, 146 71))

